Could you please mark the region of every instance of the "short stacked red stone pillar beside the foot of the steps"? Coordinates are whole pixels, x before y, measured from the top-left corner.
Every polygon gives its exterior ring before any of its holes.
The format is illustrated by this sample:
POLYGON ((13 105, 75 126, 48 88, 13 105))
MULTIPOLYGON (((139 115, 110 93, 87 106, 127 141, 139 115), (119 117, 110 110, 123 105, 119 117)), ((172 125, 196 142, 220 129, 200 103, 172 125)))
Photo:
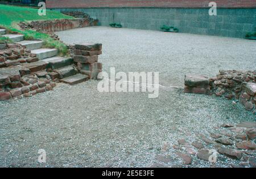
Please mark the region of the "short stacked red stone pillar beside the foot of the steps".
POLYGON ((97 79, 102 71, 102 63, 98 63, 98 55, 102 54, 102 44, 77 44, 73 47, 73 59, 81 74, 90 79, 97 79))

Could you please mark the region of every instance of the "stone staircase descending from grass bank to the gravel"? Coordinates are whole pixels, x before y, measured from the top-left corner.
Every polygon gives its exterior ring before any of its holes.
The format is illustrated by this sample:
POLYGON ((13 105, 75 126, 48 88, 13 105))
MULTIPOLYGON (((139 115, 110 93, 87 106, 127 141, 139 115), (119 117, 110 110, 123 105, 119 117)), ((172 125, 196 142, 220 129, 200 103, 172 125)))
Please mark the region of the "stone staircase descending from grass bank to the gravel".
POLYGON ((15 44, 26 46, 27 50, 31 50, 31 54, 39 59, 39 61, 31 63, 21 63, 20 65, 30 69, 32 73, 45 73, 46 69, 51 68, 56 73, 60 82, 68 84, 77 84, 89 79, 88 75, 77 74, 77 70, 73 66, 73 59, 70 57, 58 57, 57 49, 42 48, 42 41, 24 40, 24 35, 6 34, 5 29, 0 29, 0 35, 9 37, 15 44))

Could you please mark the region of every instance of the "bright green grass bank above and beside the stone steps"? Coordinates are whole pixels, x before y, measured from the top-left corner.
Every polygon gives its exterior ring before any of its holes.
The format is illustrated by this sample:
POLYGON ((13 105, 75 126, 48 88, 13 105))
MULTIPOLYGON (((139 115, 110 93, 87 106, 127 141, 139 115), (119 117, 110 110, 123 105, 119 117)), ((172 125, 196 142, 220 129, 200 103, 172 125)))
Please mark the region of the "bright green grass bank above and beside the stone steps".
POLYGON ((22 31, 19 29, 19 22, 30 22, 32 20, 54 20, 54 19, 74 19, 72 16, 61 14, 57 11, 46 11, 46 16, 38 15, 37 8, 19 7, 10 5, 0 5, 0 26, 7 29, 7 32, 18 32, 24 34, 26 40, 41 39, 44 47, 56 48, 60 56, 68 53, 68 48, 60 41, 53 40, 48 34, 31 30, 22 31))

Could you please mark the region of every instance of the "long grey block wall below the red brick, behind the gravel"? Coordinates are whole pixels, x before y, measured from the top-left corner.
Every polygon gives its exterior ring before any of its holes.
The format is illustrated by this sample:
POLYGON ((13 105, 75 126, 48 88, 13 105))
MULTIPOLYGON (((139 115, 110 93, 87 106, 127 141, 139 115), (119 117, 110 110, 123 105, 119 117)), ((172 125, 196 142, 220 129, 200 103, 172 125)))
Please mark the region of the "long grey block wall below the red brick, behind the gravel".
POLYGON ((60 8, 58 11, 83 11, 100 20, 100 25, 121 23, 125 28, 159 30, 163 24, 179 32, 245 37, 256 31, 256 8, 221 8, 209 16, 208 8, 60 8))

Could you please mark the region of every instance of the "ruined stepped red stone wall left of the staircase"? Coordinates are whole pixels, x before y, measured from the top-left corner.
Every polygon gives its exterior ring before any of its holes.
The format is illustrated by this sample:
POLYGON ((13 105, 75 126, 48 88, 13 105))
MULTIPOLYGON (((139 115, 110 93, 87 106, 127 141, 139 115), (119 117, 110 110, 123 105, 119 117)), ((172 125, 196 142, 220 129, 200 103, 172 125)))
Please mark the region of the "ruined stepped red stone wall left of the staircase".
POLYGON ((0 50, 0 100, 30 97, 52 90, 57 81, 46 71, 40 71, 45 68, 46 63, 39 61, 30 50, 18 44, 7 44, 6 49, 0 50), (25 67, 32 62, 38 63, 25 67))

